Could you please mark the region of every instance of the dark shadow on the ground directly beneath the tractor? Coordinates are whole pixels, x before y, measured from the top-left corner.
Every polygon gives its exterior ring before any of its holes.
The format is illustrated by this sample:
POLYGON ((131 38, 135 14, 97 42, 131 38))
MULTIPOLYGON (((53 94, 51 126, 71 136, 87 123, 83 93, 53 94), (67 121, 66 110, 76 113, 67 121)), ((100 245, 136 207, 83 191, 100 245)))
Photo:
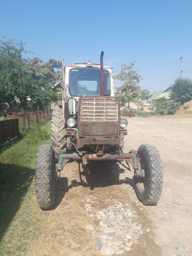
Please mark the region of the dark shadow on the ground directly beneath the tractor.
POLYGON ((95 187, 108 187, 124 183, 129 184, 134 188, 132 179, 128 177, 119 179, 120 173, 125 173, 125 168, 127 167, 124 164, 118 164, 115 161, 92 161, 88 168, 85 168, 82 171, 79 164, 78 170, 80 181, 74 179, 71 181, 71 184, 68 184, 68 179, 66 177, 57 180, 57 201, 54 209, 61 203, 65 193, 73 187, 83 186, 90 187, 90 190, 94 190, 95 187))

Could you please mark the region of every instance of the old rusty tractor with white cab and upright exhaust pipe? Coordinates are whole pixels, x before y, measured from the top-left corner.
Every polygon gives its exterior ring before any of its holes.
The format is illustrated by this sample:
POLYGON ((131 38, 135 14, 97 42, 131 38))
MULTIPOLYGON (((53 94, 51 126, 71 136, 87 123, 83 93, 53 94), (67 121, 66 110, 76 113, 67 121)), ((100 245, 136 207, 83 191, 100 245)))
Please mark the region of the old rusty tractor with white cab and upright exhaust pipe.
MULTIPOLYGON (((56 179, 68 160, 84 168, 94 161, 126 160, 134 170, 136 196, 144 205, 156 205, 162 191, 162 164, 155 146, 143 144, 124 152, 128 121, 121 118, 115 97, 113 68, 75 63, 62 70, 62 100, 54 104, 51 120, 52 145, 39 147, 35 187, 38 205, 50 210, 56 203, 56 179)), ((136 129, 136 128, 135 128, 136 129)))

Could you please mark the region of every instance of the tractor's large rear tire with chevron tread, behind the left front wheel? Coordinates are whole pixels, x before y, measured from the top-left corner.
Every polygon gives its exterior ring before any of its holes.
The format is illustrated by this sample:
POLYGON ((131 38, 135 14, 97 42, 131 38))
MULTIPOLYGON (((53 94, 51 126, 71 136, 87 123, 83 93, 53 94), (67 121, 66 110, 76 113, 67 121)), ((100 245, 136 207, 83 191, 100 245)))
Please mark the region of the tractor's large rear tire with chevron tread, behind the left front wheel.
POLYGON ((58 162, 59 154, 66 149, 66 130, 63 120, 63 109, 58 105, 53 106, 51 119, 51 141, 56 161, 58 162))

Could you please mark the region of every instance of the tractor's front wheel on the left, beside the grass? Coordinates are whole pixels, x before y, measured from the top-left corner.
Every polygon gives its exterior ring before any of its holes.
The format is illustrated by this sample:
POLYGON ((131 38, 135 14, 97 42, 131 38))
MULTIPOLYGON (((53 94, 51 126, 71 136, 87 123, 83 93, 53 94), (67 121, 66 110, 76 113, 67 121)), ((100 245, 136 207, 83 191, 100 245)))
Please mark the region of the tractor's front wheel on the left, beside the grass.
POLYGON ((39 147, 35 168, 35 190, 40 209, 50 210, 56 200, 56 163, 51 145, 39 147))

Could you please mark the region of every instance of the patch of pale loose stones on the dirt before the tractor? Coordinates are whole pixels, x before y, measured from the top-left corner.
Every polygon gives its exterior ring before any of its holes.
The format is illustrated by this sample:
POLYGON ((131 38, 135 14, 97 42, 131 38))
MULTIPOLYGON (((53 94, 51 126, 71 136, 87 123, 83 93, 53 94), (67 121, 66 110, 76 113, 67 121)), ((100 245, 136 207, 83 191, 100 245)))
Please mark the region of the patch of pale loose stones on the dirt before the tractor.
MULTIPOLYGON (((143 234, 142 224, 135 222, 135 211, 130 205, 106 200, 110 204, 106 209, 97 210, 89 204, 85 205, 87 215, 93 219, 94 225, 88 224, 87 229, 94 233, 93 249, 102 255, 120 255, 130 251, 132 245, 139 244, 143 234), (96 233, 97 232, 97 233, 96 233)), ((146 232, 149 232, 149 228, 146 232)), ((154 242, 158 243, 154 238, 154 242)))

